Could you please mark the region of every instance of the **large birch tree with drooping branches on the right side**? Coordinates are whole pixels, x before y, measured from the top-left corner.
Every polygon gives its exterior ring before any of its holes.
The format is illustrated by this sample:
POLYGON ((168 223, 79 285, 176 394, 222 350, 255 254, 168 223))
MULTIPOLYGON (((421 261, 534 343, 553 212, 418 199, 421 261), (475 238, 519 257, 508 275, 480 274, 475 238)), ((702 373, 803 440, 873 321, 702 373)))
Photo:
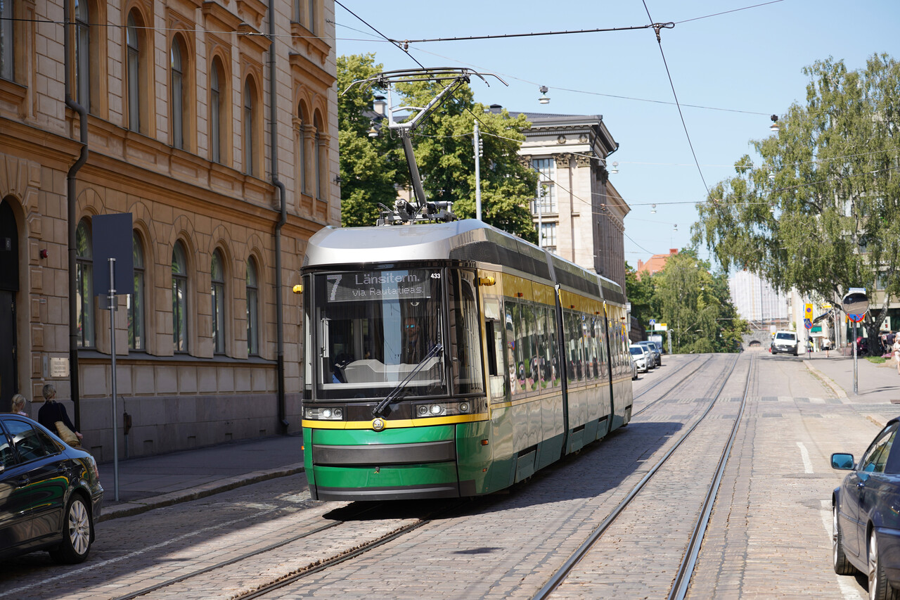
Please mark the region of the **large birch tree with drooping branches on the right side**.
POLYGON ((900 64, 875 55, 848 71, 830 58, 804 73, 806 105, 753 141, 760 166, 744 156, 711 190, 694 240, 781 290, 840 305, 865 287, 871 339, 900 293, 900 64))

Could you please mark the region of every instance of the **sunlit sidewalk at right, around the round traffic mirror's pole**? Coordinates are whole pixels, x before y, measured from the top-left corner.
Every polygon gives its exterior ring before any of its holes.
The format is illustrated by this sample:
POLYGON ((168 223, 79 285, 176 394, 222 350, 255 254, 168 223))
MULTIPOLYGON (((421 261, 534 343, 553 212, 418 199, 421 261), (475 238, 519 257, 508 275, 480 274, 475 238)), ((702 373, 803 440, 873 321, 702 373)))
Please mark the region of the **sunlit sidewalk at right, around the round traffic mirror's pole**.
POLYGON ((841 356, 832 350, 829 358, 824 352, 812 352, 804 359, 806 368, 822 378, 840 398, 860 404, 897 404, 900 415, 900 374, 896 363, 888 359, 876 365, 869 360, 857 359, 857 394, 853 394, 853 357, 841 356))

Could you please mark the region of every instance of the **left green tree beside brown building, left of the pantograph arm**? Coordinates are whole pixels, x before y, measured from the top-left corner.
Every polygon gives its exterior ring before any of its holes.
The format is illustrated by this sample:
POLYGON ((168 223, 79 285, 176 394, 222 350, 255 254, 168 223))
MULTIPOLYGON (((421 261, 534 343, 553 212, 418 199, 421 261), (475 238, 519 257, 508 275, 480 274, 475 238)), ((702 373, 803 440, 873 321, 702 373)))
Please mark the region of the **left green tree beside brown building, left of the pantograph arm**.
POLYGON ((381 135, 369 137, 376 118, 374 91, 350 87, 382 70, 382 65, 374 64, 374 54, 338 57, 341 224, 345 227, 374 225, 378 205, 393 206, 395 186, 406 186, 409 180, 400 143, 388 135, 386 123, 379 123, 381 135))

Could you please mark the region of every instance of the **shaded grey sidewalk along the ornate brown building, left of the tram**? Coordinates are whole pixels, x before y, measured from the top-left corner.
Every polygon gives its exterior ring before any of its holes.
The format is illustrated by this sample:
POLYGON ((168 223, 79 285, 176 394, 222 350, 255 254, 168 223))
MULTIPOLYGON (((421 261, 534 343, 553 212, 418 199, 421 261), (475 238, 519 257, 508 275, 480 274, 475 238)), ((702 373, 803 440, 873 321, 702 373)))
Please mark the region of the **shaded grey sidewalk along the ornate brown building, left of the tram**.
POLYGON ((119 460, 119 502, 112 462, 98 465, 100 521, 187 502, 303 470, 300 436, 235 441, 139 459, 119 460))

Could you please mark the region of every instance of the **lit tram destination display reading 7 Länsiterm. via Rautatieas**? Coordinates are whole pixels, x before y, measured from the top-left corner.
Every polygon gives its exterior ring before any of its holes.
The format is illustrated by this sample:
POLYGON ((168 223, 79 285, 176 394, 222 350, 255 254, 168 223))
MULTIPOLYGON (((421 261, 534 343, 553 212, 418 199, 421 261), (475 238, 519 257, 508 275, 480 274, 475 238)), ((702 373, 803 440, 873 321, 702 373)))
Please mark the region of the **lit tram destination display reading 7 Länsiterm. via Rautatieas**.
POLYGON ((431 297, 427 271, 359 271, 328 276, 329 302, 368 300, 424 300, 431 297))

